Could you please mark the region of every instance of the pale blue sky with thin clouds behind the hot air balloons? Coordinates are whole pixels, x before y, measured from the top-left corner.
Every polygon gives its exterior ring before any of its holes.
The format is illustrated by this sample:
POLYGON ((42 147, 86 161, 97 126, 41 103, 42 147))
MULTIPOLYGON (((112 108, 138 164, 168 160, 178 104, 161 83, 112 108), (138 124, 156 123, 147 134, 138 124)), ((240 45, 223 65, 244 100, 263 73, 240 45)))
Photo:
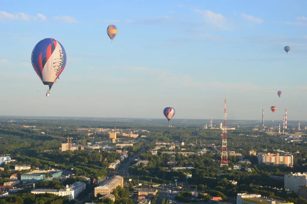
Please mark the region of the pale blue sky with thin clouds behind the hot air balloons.
POLYGON ((172 106, 177 118, 221 119, 226 95, 229 119, 261 119, 263 108, 282 120, 287 108, 288 120, 304 120, 306 10, 306 1, 1 1, 0 115, 160 118, 172 106), (30 55, 50 37, 67 64, 45 97, 30 55))

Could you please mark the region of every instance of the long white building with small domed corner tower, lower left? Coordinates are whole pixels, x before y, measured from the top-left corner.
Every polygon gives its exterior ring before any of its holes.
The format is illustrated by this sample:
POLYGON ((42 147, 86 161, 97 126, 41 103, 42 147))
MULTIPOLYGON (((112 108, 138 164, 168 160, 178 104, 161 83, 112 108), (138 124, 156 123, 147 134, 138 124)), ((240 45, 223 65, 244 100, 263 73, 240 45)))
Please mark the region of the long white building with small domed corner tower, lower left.
POLYGON ((72 185, 66 185, 65 189, 35 189, 31 191, 33 194, 51 193, 58 196, 68 196, 69 200, 78 198, 78 195, 85 190, 86 184, 83 182, 76 182, 72 185))

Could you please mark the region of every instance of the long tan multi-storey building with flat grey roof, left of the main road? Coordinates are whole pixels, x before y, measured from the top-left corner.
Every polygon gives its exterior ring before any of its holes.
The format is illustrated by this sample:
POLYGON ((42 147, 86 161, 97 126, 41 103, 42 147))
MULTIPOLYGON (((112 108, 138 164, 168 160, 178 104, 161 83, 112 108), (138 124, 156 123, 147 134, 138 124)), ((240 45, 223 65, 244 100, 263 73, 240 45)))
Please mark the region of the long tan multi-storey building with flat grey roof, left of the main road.
POLYGON ((124 185, 124 178, 122 176, 113 176, 107 179, 101 186, 95 187, 95 197, 97 194, 105 195, 111 193, 113 189, 120 186, 123 187, 124 185))

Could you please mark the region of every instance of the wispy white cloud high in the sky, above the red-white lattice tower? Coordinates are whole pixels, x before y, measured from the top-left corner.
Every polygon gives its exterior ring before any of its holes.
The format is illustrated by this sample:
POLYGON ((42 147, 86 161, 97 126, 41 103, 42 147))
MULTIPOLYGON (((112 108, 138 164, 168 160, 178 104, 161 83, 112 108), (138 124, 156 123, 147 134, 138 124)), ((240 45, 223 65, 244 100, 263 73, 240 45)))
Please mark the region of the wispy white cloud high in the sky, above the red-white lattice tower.
POLYGON ((194 9, 195 12, 202 14, 206 23, 219 28, 221 30, 228 30, 228 20, 220 13, 214 13, 210 10, 194 9))

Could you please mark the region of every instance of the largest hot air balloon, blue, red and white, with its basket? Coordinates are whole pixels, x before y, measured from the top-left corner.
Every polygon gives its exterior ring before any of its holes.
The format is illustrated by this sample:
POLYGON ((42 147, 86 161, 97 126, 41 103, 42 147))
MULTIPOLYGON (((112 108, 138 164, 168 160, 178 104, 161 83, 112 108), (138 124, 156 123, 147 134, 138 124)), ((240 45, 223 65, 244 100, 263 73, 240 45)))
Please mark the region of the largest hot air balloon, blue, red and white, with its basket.
POLYGON ((39 41, 33 48, 31 62, 41 81, 49 86, 46 96, 66 65, 64 47, 53 38, 39 41))

